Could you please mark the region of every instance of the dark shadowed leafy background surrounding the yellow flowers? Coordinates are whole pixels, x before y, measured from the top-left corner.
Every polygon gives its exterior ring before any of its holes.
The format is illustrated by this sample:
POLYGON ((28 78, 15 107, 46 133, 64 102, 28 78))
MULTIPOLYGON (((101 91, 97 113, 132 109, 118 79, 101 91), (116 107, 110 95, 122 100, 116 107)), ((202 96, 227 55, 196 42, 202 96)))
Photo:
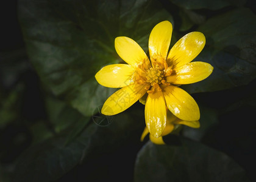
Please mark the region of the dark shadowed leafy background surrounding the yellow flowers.
POLYGON ((254 1, 10 1, 1 5, 0 181, 254 181, 254 1), (144 106, 99 126, 93 116, 114 89, 97 70, 121 62, 116 36, 147 52, 154 25, 207 39, 196 61, 213 74, 184 86, 201 128, 140 142, 144 106))

